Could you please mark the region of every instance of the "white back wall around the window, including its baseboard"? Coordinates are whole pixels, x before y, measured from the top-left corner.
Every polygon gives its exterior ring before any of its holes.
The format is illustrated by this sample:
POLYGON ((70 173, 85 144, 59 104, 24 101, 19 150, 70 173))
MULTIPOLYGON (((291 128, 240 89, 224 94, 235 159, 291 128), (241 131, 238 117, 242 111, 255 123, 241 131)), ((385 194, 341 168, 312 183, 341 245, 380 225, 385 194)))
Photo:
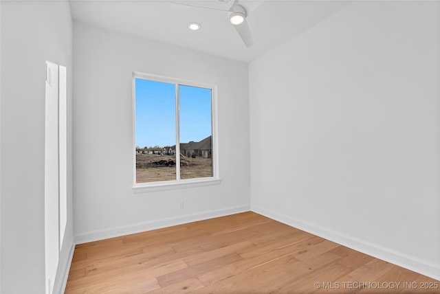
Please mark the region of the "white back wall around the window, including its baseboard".
POLYGON ((248 65, 75 22, 74 65, 78 242, 249 210, 248 65), (217 84, 219 185, 133 193, 133 71, 217 84))

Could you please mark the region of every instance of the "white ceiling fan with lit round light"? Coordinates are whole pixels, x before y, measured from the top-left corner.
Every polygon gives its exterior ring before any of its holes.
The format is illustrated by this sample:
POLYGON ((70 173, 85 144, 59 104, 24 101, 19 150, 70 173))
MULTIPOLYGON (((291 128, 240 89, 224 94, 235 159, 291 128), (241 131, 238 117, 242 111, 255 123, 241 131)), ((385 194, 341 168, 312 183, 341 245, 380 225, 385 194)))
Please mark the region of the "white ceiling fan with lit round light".
POLYGON ((228 19, 235 30, 239 33, 241 40, 246 47, 254 45, 254 39, 250 33, 248 22, 246 21, 246 10, 238 4, 239 0, 212 0, 212 1, 172 1, 173 4, 187 5, 194 8, 220 10, 228 12, 228 19))

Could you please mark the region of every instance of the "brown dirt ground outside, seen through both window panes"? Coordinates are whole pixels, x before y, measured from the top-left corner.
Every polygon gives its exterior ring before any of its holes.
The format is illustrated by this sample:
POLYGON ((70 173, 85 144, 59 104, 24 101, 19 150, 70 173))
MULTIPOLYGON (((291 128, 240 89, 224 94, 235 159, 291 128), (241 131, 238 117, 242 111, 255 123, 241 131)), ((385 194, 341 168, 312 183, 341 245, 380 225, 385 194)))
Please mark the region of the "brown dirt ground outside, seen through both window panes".
MULTIPOLYGON (((176 157, 173 155, 136 155, 136 183, 174 181, 175 161, 176 157)), ((181 157, 181 179, 202 177, 212 177, 212 159, 181 157)))

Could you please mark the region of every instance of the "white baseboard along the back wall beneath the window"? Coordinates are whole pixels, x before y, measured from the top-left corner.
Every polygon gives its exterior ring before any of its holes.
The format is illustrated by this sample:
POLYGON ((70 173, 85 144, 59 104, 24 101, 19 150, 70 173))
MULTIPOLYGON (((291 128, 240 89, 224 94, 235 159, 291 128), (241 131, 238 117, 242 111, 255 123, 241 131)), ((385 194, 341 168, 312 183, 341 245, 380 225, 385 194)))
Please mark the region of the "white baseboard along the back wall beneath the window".
POLYGON ((196 214, 186 214, 183 216, 175 216, 170 218, 162 218, 159 220, 150 220, 144 223, 135 223, 132 225, 124 225, 120 227, 112 227, 109 229, 102 229, 98 231, 90 231, 85 234, 75 236, 75 244, 82 244, 86 242, 93 242, 96 240, 104 240, 129 234, 136 234, 142 231, 151 231, 152 229, 162 229, 164 227, 171 227, 173 225, 181 225, 184 223, 191 223, 198 220, 206 220, 208 218, 216 218, 219 216, 228 216, 230 214, 238 214, 240 212, 250 211, 249 205, 242 205, 236 207, 228 207, 222 210, 211 210, 209 212, 200 212, 196 214))

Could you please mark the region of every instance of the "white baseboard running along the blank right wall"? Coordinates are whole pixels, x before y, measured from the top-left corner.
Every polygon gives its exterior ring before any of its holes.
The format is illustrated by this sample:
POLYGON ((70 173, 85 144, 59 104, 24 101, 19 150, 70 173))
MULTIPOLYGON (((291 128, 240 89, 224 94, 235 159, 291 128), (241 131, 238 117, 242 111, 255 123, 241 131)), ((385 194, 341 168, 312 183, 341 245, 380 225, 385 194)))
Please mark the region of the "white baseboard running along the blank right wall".
POLYGON ((410 269, 411 271, 421 273, 422 275, 427 275, 430 278, 440 280, 440 264, 406 256, 405 254, 397 251, 380 247, 373 243, 365 242, 364 240, 353 238, 345 234, 340 234, 325 227, 320 227, 303 220, 298 220, 292 216, 280 214, 273 210, 267 210, 263 207, 259 207, 258 205, 251 205, 251 211, 263 216, 267 216, 268 218, 278 220, 279 222, 285 223, 291 227, 296 227, 297 229, 307 231, 310 234, 331 240, 356 251, 368 254, 369 256, 397 264, 400 267, 404 267, 406 269, 410 269))

